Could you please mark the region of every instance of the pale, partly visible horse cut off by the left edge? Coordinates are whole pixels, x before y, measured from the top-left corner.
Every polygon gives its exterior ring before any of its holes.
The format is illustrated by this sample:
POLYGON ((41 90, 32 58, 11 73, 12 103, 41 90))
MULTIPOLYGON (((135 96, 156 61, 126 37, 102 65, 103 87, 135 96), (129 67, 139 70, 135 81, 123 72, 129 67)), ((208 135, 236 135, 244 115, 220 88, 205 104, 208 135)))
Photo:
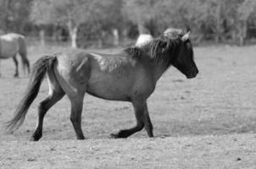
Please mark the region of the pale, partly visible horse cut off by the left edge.
POLYGON ((28 74, 30 74, 30 62, 27 58, 25 36, 15 34, 15 33, 1 35, 0 36, 0 59, 7 59, 10 57, 13 58, 14 64, 15 64, 14 77, 19 76, 19 63, 16 58, 17 53, 19 53, 19 56, 21 57, 24 72, 26 68, 28 74))

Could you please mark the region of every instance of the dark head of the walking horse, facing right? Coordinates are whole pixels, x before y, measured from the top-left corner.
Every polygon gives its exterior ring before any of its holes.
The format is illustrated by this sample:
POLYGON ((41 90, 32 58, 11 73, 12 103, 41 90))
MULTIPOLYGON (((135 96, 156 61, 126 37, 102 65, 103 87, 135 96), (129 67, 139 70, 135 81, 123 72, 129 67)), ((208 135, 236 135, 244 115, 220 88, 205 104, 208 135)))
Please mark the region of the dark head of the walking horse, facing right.
MULTIPOLYGON (((175 52, 176 56, 172 61, 172 65, 186 75, 186 78, 195 78, 198 74, 198 68, 194 62, 192 42, 189 40, 190 31, 185 34, 178 34, 181 42, 178 50, 175 52)), ((164 35, 166 33, 164 32, 164 35)))

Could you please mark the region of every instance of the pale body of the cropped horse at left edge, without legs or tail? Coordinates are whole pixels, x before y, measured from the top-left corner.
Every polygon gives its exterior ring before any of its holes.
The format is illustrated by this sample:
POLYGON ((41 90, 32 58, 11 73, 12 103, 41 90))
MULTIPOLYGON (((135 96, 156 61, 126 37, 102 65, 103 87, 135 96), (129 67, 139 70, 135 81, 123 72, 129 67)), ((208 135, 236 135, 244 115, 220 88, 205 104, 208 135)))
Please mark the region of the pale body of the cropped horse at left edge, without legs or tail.
POLYGON ((0 36, 0 57, 8 58, 14 57, 14 55, 19 52, 20 43, 23 43, 23 35, 9 33, 0 36))

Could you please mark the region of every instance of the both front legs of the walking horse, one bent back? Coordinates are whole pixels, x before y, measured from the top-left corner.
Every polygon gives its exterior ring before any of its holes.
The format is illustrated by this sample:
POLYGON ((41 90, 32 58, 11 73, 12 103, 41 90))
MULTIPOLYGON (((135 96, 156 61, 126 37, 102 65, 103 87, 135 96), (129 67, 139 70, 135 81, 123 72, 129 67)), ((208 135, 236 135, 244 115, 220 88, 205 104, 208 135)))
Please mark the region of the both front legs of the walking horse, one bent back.
POLYGON ((134 107, 136 126, 129 129, 122 129, 117 133, 111 134, 111 138, 127 138, 131 134, 141 131, 142 128, 146 128, 149 137, 153 137, 153 127, 147 112, 146 101, 132 101, 134 107))

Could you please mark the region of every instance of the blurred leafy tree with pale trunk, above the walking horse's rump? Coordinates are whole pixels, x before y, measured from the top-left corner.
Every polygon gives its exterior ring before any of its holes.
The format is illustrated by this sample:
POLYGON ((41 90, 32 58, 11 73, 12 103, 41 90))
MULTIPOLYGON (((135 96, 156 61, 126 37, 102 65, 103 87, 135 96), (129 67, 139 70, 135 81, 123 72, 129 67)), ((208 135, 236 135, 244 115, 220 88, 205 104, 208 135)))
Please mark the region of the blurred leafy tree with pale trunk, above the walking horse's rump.
POLYGON ((31 20, 37 25, 64 25, 68 28, 71 46, 77 47, 77 30, 86 19, 84 11, 88 10, 92 0, 34 0, 31 20))

